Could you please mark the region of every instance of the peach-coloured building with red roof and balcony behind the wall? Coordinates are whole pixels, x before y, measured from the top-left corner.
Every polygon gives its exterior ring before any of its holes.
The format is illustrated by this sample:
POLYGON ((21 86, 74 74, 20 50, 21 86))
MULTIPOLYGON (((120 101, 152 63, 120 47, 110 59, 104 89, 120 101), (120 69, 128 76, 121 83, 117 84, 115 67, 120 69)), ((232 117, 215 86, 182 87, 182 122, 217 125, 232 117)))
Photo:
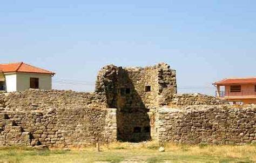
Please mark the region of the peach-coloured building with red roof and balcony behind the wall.
POLYGON ((256 77, 228 78, 215 82, 217 97, 232 104, 256 104, 256 77))

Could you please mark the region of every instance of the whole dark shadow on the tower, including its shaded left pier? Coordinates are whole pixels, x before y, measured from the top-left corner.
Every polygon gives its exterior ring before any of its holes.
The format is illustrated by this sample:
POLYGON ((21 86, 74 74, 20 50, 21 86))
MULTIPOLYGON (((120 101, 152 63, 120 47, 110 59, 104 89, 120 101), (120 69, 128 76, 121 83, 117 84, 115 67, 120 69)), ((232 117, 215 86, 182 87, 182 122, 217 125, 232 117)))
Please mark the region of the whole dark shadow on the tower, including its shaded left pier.
POLYGON ((116 67, 116 71, 110 71, 105 78, 107 103, 109 107, 117 108, 117 139, 129 142, 150 140, 149 109, 145 107, 128 72, 116 67))

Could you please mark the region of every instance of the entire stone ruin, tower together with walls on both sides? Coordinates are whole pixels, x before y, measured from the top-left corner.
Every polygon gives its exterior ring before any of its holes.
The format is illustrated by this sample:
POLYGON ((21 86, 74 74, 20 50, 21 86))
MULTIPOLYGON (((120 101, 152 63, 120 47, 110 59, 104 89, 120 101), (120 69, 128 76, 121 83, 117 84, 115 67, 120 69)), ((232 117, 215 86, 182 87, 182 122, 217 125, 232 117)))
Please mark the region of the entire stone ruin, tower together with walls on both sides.
POLYGON ((28 90, 0 94, 0 146, 83 147, 114 141, 255 142, 256 106, 177 94, 167 64, 103 67, 92 93, 28 90))

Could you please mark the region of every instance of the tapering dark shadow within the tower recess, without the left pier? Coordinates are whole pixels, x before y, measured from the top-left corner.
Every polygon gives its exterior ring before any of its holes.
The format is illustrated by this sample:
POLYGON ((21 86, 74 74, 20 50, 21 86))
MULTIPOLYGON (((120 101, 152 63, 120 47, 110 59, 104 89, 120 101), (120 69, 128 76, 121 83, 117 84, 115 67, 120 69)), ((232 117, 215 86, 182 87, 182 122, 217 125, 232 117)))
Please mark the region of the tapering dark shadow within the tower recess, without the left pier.
POLYGON ((140 142, 151 139, 149 109, 143 103, 126 70, 119 73, 117 84, 118 140, 140 142))

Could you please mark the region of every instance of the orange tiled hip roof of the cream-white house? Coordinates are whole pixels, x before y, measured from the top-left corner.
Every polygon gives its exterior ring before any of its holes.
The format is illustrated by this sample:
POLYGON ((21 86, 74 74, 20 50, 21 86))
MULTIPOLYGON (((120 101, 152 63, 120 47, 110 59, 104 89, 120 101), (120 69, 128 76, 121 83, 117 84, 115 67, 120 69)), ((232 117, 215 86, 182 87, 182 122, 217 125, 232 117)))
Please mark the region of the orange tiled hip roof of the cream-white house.
POLYGON ((52 74, 54 72, 44 70, 23 62, 19 63, 9 63, 9 64, 0 64, 0 72, 7 73, 7 72, 24 72, 24 73, 43 73, 43 74, 52 74))

